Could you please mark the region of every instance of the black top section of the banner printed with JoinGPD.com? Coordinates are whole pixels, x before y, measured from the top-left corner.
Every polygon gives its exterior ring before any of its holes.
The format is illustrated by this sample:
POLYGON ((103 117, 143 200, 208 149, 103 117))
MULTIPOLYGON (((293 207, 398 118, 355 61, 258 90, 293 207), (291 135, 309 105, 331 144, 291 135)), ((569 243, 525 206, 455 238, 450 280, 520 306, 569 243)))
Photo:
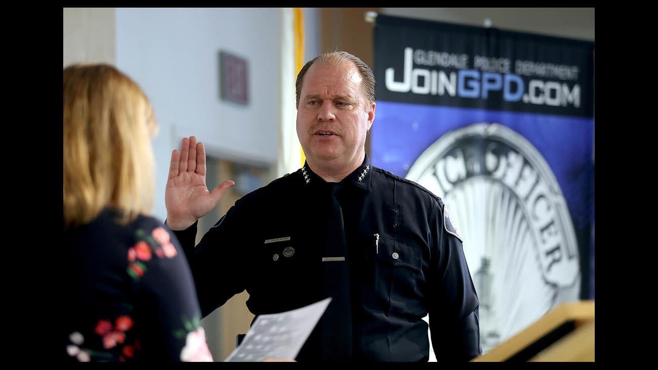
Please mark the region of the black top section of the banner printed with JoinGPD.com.
POLYGON ((593 116, 592 42, 384 15, 376 22, 374 49, 386 55, 374 64, 378 100, 593 116))

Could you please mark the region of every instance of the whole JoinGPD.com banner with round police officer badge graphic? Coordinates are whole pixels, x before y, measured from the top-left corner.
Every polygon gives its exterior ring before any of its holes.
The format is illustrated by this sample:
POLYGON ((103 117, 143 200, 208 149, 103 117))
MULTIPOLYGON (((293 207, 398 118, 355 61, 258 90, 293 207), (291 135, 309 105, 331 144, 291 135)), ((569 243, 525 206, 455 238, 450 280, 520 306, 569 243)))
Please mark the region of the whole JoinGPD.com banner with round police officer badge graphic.
POLYGON ((373 165, 443 199, 484 352, 594 299, 594 43, 379 15, 373 165))

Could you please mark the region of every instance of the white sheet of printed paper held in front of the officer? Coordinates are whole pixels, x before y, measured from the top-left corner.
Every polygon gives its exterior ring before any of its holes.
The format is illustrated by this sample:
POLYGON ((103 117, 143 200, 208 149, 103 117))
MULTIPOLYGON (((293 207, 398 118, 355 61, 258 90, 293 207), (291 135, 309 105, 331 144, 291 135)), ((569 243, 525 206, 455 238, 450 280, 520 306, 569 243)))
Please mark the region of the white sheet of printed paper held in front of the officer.
POLYGON ((331 298, 292 311, 260 315, 226 361, 294 359, 322 317, 331 298))

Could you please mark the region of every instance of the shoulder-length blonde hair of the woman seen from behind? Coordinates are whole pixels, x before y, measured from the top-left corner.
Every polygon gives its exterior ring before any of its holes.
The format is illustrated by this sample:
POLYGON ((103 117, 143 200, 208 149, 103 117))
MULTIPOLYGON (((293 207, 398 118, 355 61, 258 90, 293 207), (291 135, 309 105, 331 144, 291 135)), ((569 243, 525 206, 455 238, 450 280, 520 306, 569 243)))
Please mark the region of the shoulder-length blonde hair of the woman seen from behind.
POLYGON ((153 205, 157 122, 139 86, 110 65, 64 68, 64 227, 105 207, 126 224, 153 205))

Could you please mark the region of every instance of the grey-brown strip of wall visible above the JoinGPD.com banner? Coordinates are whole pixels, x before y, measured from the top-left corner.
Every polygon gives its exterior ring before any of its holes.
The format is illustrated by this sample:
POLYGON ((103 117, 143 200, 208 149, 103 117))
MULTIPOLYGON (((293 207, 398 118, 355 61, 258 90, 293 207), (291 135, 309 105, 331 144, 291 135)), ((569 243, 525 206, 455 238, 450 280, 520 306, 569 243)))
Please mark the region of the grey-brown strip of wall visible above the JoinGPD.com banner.
POLYGON ((382 14, 406 16, 594 41, 594 8, 382 8, 382 14))

